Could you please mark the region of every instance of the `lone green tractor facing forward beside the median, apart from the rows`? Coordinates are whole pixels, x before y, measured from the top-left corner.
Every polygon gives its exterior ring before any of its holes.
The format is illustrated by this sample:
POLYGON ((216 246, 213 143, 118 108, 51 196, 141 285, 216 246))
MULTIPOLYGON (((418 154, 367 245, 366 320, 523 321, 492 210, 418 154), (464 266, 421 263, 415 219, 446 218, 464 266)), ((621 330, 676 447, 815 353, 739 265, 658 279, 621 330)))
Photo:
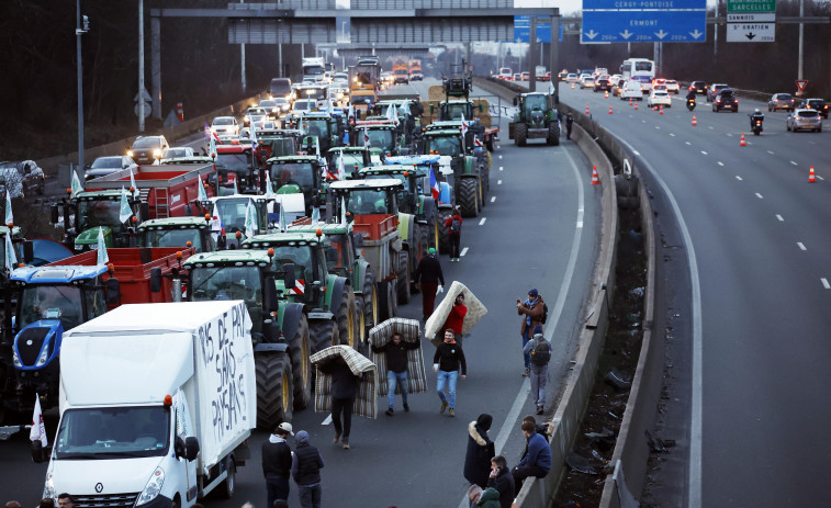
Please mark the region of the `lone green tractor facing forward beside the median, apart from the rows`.
POLYGON ((548 93, 520 93, 514 98, 518 108, 516 121, 508 124, 508 138, 516 146, 526 146, 528 139, 546 139, 551 146, 560 145, 560 120, 554 98, 548 93))

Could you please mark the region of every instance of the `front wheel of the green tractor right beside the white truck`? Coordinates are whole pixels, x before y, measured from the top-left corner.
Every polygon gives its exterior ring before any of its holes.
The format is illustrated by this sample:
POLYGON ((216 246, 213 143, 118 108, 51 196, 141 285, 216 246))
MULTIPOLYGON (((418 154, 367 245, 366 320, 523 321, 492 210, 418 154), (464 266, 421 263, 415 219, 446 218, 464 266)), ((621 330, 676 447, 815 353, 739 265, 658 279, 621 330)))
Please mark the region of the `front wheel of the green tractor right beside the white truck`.
POLYGON ((272 432, 292 418, 291 362, 283 353, 263 352, 254 359, 257 380, 257 427, 272 432))

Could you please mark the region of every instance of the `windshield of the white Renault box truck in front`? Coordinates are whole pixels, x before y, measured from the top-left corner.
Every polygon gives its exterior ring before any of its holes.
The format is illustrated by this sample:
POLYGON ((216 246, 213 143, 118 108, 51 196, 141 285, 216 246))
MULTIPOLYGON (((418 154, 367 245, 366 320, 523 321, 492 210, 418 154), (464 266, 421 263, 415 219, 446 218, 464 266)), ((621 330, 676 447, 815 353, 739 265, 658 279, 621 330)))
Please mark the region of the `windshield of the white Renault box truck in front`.
POLYGON ((161 456, 169 441, 170 411, 161 406, 67 409, 55 455, 63 460, 161 456))

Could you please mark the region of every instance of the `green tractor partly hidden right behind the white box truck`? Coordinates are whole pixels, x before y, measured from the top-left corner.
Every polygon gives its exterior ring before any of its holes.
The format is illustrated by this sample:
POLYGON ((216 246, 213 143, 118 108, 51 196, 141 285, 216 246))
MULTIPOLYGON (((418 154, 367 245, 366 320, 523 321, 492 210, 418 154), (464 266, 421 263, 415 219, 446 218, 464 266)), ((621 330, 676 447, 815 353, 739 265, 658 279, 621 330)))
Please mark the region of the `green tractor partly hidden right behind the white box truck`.
MULTIPOLYGON (((312 354, 303 305, 279 287, 293 287, 294 267, 268 250, 198 253, 183 263, 187 300, 242 300, 251 317, 257 376, 257 427, 273 430, 293 409, 312 403, 312 354)), ((216 346, 218 347, 218 346, 216 346)))

